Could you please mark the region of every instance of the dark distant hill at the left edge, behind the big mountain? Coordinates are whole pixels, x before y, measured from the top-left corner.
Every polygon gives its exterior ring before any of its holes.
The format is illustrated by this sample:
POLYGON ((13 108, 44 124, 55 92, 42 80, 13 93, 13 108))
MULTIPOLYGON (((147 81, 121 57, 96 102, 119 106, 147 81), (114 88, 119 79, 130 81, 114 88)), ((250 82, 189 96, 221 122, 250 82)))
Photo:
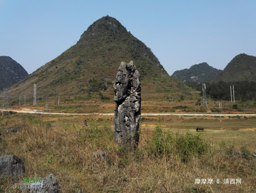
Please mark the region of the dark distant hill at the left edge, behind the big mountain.
POLYGON ((27 71, 9 56, 0 56, 0 90, 25 79, 27 71))

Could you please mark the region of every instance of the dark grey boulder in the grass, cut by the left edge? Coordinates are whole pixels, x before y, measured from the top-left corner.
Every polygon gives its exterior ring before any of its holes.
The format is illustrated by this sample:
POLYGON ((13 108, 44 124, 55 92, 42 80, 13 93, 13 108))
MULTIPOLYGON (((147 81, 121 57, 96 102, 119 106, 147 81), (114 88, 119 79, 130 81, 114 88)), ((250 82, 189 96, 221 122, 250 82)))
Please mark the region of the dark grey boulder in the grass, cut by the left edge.
POLYGON ((16 177, 25 173, 25 166, 21 158, 16 155, 0 156, 0 178, 16 177))

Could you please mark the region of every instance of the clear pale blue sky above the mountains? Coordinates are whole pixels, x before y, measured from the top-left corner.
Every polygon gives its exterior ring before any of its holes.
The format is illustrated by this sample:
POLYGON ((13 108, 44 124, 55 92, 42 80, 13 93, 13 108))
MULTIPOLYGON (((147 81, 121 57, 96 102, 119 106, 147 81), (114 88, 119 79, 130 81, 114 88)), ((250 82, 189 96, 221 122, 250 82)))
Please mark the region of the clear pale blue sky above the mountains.
POLYGON ((169 73, 207 62, 224 69, 237 54, 256 56, 255 0, 0 0, 0 56, 34 72, 114 16, 169 73))

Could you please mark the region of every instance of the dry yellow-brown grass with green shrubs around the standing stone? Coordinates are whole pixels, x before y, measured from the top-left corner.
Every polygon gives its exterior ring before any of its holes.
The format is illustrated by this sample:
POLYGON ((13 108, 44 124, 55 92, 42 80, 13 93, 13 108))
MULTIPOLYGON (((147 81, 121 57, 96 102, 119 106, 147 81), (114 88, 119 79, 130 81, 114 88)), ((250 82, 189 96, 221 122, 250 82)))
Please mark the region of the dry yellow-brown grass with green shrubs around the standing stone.
MULTIPOLYGON (((138 150, 124 152, 114 142, 112 118, 87 117, 88 127, 82 127, 82 121, 71 116, 48 118, 50 126, 47 118, 19 114, 0 118, 0 155, 15 154, 26 167, 22 177, 1 179, 0 192, 26 192, 12 189, 15 181, 43 178, 50 173, 56 176, 61 193, 76 193, 79 189, 83 193, 256 191, 256 159, 233 154, 234 149, 243 148, 247 154, 252 153, 253 145, 238 148, 225 141, 212 143, 207 136, 186 130, 184 125, 184 132, 168 132, 161 118, 153 118, 156 123, 150 128, 144 118, 138 150), (8 128, 22 133, 6 133, 8 128), (92 155, 98 150, 106 151, 108 159, 94 159, 92 155), (196 178, 211 178, 213 183, 197 185, 196 178), (223 184, 226 178, 240 178, 241 184, 223 184)), ((184 117, 170 122, 178 125, 182 120, 184 117)), ((244 139, 243 145, 246 143, 244 139)))

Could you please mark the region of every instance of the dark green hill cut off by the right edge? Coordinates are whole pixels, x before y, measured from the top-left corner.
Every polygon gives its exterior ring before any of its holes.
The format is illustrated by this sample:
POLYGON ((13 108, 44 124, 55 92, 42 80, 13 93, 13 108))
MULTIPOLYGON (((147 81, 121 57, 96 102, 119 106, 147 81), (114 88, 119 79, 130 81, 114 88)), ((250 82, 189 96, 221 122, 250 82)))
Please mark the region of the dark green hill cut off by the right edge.
POLYGON ((256 57, 239 54, 212 82, 256 81, 256 57))

